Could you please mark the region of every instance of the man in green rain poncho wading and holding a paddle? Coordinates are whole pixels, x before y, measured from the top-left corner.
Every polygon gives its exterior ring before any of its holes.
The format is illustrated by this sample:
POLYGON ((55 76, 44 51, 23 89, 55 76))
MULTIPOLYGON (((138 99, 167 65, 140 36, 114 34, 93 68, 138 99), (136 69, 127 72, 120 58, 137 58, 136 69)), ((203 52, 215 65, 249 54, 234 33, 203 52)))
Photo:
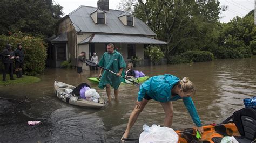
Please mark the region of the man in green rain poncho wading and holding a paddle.
POLYGON ((111 87, 114 88, 114 97, 117 99, 118 97, 118 87, 121 83, 120 76, 124 76, 124 68, 126 68, 126 63, 124 61, 123 56, 114 50, 114 45, 112 43, 107 44, 107 52, 105 52, 102 56, 102 59, 99 61, 99 66, 102 66, 106 69, 113 71, 115 74, 110 73, 109 71, 103 71, 104 69, 100 69, 99 73, 99 88, 103 89, 106 87, 107 97, 109 98, 109 102, 111 102, 111 87))

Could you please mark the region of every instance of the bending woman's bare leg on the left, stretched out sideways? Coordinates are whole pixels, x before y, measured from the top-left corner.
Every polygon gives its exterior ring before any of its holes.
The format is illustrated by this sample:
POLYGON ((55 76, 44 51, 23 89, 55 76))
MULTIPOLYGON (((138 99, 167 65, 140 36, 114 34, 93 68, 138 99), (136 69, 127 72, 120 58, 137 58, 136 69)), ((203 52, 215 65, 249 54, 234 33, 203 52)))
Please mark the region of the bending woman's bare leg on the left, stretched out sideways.
POLYGON ((142 110, 146 106, 147 102, 149 102, 149 101, 147 99, 143 98, 142 99, 142 104, 140 105, 140 108, 138 108, 137 105, 135 106, 135 108, 133 109, 133 111, 132 111, 132 113, 130 115, 130 118, 129 118, 126 130, 125 130, 125 133, 123 134, 122 138, 127 138, 128 137, 128 134, 129 134, 129 132, 131 130, 131 127, 136 122, 136 120, 137 120, 137 118, 139 116, 139 113, 142 112, 142 110))

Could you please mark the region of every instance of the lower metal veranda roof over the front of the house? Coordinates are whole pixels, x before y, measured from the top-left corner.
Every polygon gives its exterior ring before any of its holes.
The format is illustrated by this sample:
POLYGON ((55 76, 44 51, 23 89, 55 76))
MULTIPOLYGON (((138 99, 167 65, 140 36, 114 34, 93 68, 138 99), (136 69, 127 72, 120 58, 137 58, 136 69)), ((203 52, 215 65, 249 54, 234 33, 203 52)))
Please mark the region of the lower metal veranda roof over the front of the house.
POLYGON ((79 44, 87 43, 131 43, 131 44, 168 44, 167 42, 138 35, 92 34, 79 44))

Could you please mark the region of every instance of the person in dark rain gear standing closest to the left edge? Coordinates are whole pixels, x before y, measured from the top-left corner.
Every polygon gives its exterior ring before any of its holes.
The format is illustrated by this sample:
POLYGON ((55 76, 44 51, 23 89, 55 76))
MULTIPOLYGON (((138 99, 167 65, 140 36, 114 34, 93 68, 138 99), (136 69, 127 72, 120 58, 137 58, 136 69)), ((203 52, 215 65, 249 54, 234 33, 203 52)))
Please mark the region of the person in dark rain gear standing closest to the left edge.
POLYGON ((4 63, 4 72, 3 72, 3 81, 6 81, 6 74, 8 71, 10 72, 11 80, 14 79, 14 52, 11 51, 11 44, 6 44, 5 49, 1 52, 1 56, 3 56, 4 63))

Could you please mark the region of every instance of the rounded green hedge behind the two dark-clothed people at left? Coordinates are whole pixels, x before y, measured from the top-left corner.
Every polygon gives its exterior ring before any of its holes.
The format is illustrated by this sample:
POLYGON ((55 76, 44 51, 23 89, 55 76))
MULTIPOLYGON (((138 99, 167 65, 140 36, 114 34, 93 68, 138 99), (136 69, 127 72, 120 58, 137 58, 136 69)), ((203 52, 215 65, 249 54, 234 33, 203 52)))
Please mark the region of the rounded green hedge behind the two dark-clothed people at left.
POLYGON ((0 51, 6 43, 12 45, 12 50, 17 48, 17 43, 22 43, 24 50, 24 74, 37 75, 45 69, 46 47, 41 38, 17 33, 10 36, 0 35, 0 51))

